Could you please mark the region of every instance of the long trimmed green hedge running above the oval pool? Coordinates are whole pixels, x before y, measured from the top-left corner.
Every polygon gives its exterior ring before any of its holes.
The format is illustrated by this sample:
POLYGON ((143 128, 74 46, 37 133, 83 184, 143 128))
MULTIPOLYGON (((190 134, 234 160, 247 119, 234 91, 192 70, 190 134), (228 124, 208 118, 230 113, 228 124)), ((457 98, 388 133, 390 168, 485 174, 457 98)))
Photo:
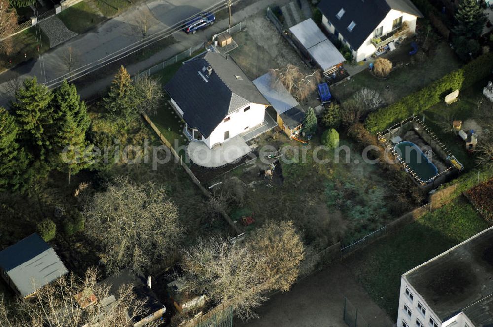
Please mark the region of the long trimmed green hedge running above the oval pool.
POLYGON ((383 131, 393 123, 428 110, 442 101, 448 93, 471 87, 491 74, 492 69, 493 53, 490 52, 402 98, 399 102, 372 112, 365 121, 365 127, 372 133, 383 131))

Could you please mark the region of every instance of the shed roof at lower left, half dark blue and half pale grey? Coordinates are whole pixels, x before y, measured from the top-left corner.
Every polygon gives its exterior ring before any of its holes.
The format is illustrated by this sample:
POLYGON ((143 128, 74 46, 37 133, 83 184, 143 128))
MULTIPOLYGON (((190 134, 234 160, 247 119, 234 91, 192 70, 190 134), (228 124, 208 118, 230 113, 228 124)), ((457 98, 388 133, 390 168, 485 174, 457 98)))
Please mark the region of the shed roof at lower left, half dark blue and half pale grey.
POLYGON ((0 267, 22 297, 68 273, 55 250, 38 234, 32 234, 1 251, 0 267))

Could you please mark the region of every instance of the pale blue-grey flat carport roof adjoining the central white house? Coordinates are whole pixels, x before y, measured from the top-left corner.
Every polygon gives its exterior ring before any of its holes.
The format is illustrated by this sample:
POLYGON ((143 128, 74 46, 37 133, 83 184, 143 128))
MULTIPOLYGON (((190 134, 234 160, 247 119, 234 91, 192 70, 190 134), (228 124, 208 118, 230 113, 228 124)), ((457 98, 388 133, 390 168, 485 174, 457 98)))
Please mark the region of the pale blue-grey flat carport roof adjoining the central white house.
POLYGON ((273 83, 271 73, 260 76, 253 81, 253 84, 279 115, 299 105, 282 83, 273 83))

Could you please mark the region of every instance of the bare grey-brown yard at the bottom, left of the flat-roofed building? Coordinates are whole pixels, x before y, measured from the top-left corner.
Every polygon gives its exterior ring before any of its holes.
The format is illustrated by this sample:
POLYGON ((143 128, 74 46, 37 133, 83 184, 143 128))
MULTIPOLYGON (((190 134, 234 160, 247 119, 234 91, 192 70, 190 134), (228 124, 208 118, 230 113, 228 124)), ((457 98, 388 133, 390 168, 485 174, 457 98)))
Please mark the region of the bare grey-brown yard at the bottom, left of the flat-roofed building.
POLYGON ((371 327, 392 327, 380 309, 355 280, 349 267, 333 265, 278 293, 255 310, 261 317, 235 327, 348 327, 343 320, 344 297, 358 308, 371 327))

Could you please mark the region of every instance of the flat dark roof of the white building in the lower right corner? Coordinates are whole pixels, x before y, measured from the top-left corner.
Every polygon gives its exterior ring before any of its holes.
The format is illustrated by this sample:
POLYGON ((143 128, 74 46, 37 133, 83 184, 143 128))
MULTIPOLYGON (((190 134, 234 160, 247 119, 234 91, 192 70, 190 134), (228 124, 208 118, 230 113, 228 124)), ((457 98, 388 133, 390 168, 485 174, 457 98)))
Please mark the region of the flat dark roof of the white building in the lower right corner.
MULTIPOLYGON (((489 228, 408 271, 403 278, 443 322, 491 296, 492 276, 493 228, 489 228)), ((492 311, 488 319, 491 317, 492 311)))

